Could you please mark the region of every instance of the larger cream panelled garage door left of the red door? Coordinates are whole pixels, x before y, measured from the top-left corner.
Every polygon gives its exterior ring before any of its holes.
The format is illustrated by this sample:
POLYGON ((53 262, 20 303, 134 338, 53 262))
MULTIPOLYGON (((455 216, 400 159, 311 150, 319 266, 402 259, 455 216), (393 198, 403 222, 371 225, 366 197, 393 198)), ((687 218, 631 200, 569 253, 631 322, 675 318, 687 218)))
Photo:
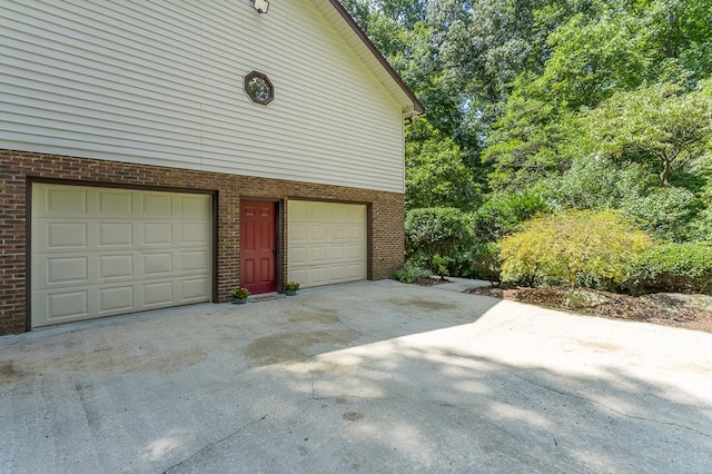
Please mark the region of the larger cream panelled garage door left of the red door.
POLYGON ((209 302, 211 197, 32 186, 32 327, 209 302))

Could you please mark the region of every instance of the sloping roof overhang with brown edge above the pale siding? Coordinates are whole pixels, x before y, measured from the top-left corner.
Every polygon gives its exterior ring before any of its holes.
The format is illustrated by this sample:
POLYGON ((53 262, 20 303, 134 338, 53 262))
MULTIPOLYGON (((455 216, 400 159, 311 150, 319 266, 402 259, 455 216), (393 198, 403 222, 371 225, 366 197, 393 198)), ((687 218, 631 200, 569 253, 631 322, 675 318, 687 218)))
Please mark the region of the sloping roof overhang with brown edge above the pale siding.
POLYGON ((403 81, 403 78, 393 69, 393 66, 378 51, 378 48, 366 36, 356 20, 346 11, 339 0, 314 0, 316 7, 326 19, 334 24, 336 30, 346 39, 346 42, 364 62, 375 72, 380 82, 403 106, 403 115, 412 118, 425 113, 425 107, 415 97, 415 93, 403 81))

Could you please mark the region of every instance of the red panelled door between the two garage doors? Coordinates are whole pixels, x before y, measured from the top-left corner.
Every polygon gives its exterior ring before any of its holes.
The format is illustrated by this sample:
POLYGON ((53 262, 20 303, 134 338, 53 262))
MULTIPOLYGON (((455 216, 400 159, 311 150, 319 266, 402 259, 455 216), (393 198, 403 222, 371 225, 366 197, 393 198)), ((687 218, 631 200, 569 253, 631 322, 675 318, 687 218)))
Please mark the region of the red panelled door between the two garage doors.
POLYGON ((240 201, 240 286, 277 289, 277 203, 240 201))

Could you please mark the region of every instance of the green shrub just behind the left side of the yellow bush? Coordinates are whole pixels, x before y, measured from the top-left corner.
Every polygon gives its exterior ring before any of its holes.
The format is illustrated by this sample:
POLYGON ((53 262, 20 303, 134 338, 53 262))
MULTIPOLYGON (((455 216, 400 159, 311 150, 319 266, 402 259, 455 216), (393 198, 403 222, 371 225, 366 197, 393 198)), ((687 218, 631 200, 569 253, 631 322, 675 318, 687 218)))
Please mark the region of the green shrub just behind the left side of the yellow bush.
POLYGON ((473 215, 475 240, 496 241, 513 233, 523 221, 548 211, 546 201, 535 192, 493 195, 473 215))

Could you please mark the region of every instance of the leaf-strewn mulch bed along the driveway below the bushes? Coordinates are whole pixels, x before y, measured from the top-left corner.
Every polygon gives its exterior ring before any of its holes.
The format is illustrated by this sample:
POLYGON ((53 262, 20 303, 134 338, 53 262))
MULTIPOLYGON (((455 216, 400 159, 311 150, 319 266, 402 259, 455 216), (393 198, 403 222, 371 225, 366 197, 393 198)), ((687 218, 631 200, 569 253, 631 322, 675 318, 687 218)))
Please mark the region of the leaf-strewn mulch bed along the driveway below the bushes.
POLYGON ((568 287, 481 287, 469 293, 594 316, 712 333, 712 296, 708 295, 659 293, 635 297, 568 287))

